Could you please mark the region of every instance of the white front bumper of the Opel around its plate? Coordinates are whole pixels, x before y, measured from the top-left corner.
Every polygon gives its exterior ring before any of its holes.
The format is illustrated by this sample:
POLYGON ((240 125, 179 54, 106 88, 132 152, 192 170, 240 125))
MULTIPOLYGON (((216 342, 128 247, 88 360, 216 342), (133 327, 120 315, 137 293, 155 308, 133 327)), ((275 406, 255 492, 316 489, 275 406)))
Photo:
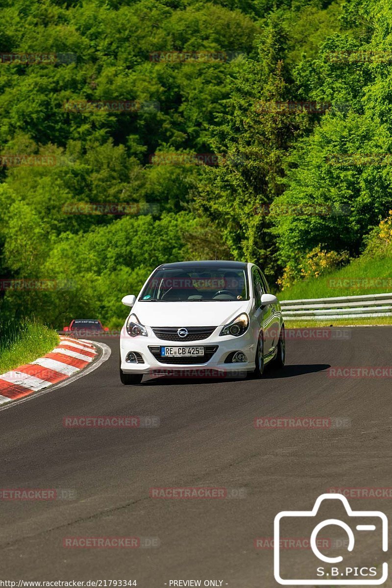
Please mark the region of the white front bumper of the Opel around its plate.
MULTIPOLYGON (((222 326, 219 326, 207 339, 192 342, 165 341, 157 338, 152 329, 148 329, 149 336, 131 337, 122 329, 120 338, 120 368, 124 373, 140 373, 159 375, 160 373, 202 372, 203 370, 214 370, 222 375, 238 372, 252 372, 255 368, 254 360, 256 358, 257 336, 256 338, 247 330, 244 335, 234 337, 227 335, 220 337, 219 333, 222 326), (175 360, 173 363, 170 358, 160 361, 159 349, 161 346, 170 347, 194 347, 203 346, 205 348, 205 357, 203 363, 195 362, 193 358, 181 358, 180 363, 175 360), (215 349, 215 350, 213 350, 215 349), (242 351, 247 358, 246 362, 225 363, 230 353, 242 351), (129 352, 140 354, 143 363, 128 363, 125 361, 129 352), (189 363, 183 363, 187 362, 189 363), (193 361, 193 363, 192 363, 193 361)), ((200 358, 201 359, 201 358, 200 358)))

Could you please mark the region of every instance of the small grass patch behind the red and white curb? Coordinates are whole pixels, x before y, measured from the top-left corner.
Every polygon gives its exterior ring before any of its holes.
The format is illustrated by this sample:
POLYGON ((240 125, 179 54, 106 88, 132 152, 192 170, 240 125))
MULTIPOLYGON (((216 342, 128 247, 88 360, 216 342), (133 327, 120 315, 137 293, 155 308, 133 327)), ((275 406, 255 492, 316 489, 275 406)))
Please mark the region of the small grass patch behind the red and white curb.
POLYGON ((32 362, 59 343, 56 331, 41 323, 9 322, 0 330, 0 374, 32 362))

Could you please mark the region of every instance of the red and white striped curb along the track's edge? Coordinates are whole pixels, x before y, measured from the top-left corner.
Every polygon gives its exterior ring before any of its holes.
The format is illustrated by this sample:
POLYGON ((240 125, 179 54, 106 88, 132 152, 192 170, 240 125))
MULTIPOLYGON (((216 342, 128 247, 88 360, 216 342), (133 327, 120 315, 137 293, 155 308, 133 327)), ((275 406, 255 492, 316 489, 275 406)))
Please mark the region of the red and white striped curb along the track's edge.
POLYGON ((61 336, 59 345, 43 358, 0 374, 0 405, 74 376, 86 368, 96 355, 95 346, 91 343, 61 336))

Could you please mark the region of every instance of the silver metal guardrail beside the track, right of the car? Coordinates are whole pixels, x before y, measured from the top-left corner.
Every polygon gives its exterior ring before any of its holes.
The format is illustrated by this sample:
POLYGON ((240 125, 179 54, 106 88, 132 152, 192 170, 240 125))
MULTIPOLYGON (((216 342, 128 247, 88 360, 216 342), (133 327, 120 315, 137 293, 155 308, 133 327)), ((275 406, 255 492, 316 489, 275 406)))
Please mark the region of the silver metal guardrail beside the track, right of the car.
POLYGON ((329 320, 392 316, 392 292, 364 296, 282 300, 280 305, 284 319, 329 320))

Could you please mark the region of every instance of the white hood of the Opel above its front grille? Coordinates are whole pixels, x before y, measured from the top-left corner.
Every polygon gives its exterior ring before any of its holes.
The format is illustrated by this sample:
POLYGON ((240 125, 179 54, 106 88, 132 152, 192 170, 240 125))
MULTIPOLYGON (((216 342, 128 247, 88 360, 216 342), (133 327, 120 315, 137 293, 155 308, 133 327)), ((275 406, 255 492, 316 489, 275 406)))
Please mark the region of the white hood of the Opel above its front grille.
POLYGON ((201 327, 226 325, 242 312, 250 300, 234 302, 136 302, 131 313, 150 327, 201 327))

